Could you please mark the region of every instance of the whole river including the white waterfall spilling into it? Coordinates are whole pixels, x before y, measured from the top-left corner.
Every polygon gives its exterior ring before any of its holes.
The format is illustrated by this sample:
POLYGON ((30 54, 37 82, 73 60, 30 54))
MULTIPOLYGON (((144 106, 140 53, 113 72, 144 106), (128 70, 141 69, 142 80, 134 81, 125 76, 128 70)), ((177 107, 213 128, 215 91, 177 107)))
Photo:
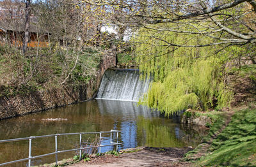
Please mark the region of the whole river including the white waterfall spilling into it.
POLYGON ((34 166, 58 162, 58 159, 67 159, 74 154, 81 157, 80 152, 90 150, 90 143, 95 143, 95 134, 102 139, 93 145, 95 152, 145 145, 196 147, 207 133, 205 129, 180 124, 177 117, 170 119, 132 102, 148 91, 150 82, 140 80, 134 69, 109 69, 100 83, 98 98, 102 99, 1 120, 0 166, 26 166, 28 161, 34 166), (109 129, 120 131, 115 131, 114 137, 111 136, 113 131, 104 133, 109 129), (86 133, 97 131, 99 133, 86 133))

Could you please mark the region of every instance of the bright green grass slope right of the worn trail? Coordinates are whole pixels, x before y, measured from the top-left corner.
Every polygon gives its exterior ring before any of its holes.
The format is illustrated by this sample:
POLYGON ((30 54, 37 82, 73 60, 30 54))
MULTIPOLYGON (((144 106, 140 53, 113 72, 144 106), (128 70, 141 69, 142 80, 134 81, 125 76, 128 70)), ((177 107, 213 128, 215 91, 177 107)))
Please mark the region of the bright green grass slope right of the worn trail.
POLYGON ((236 112, 200 166, 256 166, 256 109, 236 112))

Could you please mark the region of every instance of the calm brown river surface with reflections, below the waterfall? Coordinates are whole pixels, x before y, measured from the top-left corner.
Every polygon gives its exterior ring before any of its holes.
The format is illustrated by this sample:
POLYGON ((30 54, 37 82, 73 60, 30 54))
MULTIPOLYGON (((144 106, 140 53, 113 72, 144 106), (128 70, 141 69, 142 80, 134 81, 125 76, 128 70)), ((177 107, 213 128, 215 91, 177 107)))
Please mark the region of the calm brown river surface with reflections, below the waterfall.
MULTIPOLYGON (((196 146, 205 131, 197 126, 184 126, 178 118, 167 119, 159 112, 152 112, 145 106, 127 101, 93 100, 65 106, 46 112, 34 113, 0 121, 0 140, 22 138, 54 133, 77 133, 90 131, 122 131, 120 149, 147 145, 150 147, 196 146), (45 121, 44 119, 67 119, 45 121)), ((83 135, 84 141, 95 136, 83 135)), ((104 134, 104 143, 109 134, 104 134)), ((79 144, 79 136, 58 137, 60 150, 72 149, 79 144)), ((33 140, 32 156, 54 152, 54 137, 33 140)), ((102 151, 113 149, 104 147, 102 151)), ((59 159, 72 157, 76 152, 60 154, 59 159)), ((28 157, 28 141, 0 143, 0 163, 28 157)), ((34 164, 52 163, 54 156, 36 159, 34 164)), ((26 166, 13 164, 13 166, 26 166)))

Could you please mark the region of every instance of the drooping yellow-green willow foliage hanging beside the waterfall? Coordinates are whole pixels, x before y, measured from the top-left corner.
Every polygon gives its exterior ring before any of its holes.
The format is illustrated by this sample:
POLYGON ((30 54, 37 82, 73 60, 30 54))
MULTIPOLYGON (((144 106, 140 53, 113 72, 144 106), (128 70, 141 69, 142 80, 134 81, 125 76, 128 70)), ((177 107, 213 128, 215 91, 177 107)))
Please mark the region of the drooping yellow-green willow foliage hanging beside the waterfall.
MULTIPOLYGON (((170 26, 170 25, 168 25, 170 26)), ((144 79, 153 76, 148 93, 140 100, 170 115, 188 108, 207 110, 230 103, 232 91, 225 83, 225 62, 215 48, 177 48, 168 43, 197 45, 197 36, 141 28, 132 39, 136 62, 144 79)), ((186 27, 184 27, 186 28, 186 27)))

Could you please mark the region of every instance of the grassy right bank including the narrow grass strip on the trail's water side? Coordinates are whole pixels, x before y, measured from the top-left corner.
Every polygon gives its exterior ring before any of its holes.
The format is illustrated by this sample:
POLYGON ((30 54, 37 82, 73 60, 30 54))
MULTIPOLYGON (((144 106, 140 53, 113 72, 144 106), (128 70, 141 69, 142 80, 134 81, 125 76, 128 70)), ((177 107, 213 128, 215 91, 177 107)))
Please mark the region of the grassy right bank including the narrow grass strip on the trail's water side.
POLYGON ((194 161, 193 166, 256 166, 256 109, 234 113, 220 134, 218 132, 228 117, 225 113, 214 115, 218 118, 209 135, 201 145, 186 154, 186 160, 194 161), (211 145, 207 146, 207 143, 211 145))

